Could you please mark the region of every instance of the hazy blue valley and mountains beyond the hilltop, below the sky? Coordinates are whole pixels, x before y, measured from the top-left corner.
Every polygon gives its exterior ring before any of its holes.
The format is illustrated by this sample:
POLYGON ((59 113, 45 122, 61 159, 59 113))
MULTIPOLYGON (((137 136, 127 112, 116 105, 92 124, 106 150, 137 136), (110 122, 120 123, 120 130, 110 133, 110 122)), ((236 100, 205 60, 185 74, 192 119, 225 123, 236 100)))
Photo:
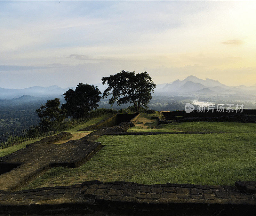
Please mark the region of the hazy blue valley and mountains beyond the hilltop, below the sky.
MULTIPOLYGON (((101 92, 105 86, 96 84, 101 92)), ((74 89, 72 87, 71 89, 74 89)), ((65 103, 62 89, 58 86, 31 87, 27 89, 3 89, 0 88, 0 134, 28 129, 32 125, 38 125, 40 119, 36 109, 47 100, 60 98, 60 104, 65 103)), ((195 106, 201 103, 212 104, 244 104, 244 109, 256 109, 256 86, 227 86, 212 79, 199 79, 196 76, 188 76, 184 80, 176 80, 170 84, 159 84, 148 109, 156 111, 184 110, 186 103, 195 106), (195 102, 197 101, 197 102, 195 102)), ((108 104, 109 98, 101 99, 99 108, 127 108, 132 104, 113 106, 108 104)))

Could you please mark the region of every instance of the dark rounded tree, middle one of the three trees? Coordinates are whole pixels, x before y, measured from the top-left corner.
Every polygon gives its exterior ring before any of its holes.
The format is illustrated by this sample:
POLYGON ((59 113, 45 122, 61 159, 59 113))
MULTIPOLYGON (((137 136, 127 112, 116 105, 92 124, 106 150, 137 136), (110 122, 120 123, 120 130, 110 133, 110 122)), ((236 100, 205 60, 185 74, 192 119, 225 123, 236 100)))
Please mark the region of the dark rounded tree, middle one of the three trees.
POLYGON ((67 101, 62 104, 62 108, 67 110, 67 116, 73 118, 84 117, 94 108, 98 108, 101 92, 97 86, 79 83, 75 90, 69 89, 65 92, 64 99, 67 101))

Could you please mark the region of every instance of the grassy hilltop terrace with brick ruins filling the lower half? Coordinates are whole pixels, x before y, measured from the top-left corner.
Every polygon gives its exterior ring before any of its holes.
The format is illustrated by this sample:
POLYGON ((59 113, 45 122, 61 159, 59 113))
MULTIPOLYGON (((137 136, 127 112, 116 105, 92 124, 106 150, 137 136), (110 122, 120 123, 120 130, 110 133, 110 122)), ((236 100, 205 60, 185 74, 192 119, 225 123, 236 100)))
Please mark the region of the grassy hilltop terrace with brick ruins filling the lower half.
POLYGON ((254 123, 135 116, 115 126, 102 116, 0 158, 17 165, 0 175, 0 213, 254 214, 254 123))

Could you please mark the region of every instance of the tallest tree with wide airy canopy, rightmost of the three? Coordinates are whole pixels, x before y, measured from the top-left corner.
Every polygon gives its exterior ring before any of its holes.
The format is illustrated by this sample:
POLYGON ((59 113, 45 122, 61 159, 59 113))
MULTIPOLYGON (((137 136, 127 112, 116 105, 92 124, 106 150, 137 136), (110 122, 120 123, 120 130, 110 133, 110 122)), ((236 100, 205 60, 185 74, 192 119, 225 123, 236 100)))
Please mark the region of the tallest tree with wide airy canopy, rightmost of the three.
POLYGON ((108 84, 108 88, 103 93, 103 98, 110 95, 109 103, 113 105, 117 102, 120 106, 124 103, 133 103, 137 112, 140 112, 141 106, 148 108, 151 100, 151 92, 154 92, 156 84, 147 72, 138 73, 122 70, 120 73, 102 78, 102 84, 108 84), (122 97, 123 96, 123 97, 122 97))

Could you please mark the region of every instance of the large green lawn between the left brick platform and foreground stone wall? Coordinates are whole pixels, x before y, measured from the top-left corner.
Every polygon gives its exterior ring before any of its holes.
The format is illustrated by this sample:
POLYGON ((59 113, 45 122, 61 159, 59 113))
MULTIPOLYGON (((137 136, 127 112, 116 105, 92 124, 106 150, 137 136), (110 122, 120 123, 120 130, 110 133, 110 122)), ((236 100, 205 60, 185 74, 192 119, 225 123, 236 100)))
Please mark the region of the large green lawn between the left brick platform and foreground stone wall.
POLYGON ((234 185, 255 180, 255 133, 103 136, 82 166, 56 167, 24 188, 87 180, 234 185))

